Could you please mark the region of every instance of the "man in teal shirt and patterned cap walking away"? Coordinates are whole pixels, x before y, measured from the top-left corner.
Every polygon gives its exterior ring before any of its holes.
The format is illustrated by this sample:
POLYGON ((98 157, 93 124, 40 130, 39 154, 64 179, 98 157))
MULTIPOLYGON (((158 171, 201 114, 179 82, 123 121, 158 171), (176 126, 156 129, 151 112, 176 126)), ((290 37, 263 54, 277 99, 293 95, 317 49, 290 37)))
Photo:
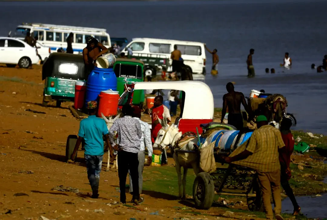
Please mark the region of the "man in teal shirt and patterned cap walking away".
POLYGON ((87 177, 92 188, 92 198, 98 198, 99 196, 98 190, 103 157, 103 136, 109 146, 110 154, 112 155, 113 152, 109 141, 109 131, 106 122, 102 118, 96 117, 96 108, 96 101, 90 101, 87 103, 87 109, 89 110, 90 116, 80 122, 78 139, 71 156, 71 159, 74 160, 78 147, 84 138, 84 158, 86 161, 87 177))

